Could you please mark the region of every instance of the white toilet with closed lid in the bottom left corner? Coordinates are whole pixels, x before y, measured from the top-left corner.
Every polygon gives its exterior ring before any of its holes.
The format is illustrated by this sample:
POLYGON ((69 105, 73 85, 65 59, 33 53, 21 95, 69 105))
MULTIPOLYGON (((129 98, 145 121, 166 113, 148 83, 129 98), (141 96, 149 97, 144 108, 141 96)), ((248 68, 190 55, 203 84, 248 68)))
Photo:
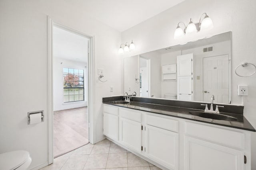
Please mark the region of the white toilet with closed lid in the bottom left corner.
POLYGON ((29 152, 25 150, 0 154, 0 170, 27 170, 30 163, 29 152))

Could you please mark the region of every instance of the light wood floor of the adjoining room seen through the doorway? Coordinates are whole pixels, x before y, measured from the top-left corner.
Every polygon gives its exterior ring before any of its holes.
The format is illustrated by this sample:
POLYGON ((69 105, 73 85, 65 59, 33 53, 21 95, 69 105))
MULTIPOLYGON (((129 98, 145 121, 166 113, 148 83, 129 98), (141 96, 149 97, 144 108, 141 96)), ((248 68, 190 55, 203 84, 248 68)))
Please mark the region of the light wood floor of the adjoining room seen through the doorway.
POLYGON ((54 158, 88 143, 87 107, 54 111, 54 158))

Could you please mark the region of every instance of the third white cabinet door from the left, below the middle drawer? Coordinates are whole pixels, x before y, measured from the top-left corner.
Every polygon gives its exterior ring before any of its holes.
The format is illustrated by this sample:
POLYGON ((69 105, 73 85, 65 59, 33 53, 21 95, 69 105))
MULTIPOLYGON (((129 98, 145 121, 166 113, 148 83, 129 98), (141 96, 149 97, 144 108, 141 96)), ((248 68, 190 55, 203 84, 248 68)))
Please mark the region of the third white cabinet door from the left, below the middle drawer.
POLYGON ((168 169, 178 170, 178 133, 146 125, 146 155, 168 169))

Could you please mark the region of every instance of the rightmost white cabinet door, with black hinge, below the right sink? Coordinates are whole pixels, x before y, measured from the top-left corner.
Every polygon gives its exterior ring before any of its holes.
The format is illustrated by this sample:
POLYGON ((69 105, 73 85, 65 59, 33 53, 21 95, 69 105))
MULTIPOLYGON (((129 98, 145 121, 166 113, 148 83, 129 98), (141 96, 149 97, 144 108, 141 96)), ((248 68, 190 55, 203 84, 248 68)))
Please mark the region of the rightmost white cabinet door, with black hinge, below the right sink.
POLYGON ((244 170, 243 158, 240 150, 185 137, 186 170, 244 170))

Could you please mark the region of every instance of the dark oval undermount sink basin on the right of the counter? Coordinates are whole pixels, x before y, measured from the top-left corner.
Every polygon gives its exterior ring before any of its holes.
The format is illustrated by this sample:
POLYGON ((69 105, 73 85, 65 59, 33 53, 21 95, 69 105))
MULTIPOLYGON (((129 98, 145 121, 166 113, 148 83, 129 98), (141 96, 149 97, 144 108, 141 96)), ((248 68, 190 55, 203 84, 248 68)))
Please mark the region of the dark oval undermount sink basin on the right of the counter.
POLYGON ((222 115, 218 113, 206 113, 202 111, 190 111, 189 114, 209 119, 216 119, 216 120, 226 120, 226 121, 236 121, 236 117, 222 115))

